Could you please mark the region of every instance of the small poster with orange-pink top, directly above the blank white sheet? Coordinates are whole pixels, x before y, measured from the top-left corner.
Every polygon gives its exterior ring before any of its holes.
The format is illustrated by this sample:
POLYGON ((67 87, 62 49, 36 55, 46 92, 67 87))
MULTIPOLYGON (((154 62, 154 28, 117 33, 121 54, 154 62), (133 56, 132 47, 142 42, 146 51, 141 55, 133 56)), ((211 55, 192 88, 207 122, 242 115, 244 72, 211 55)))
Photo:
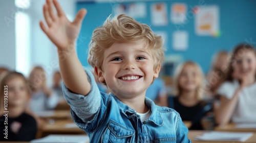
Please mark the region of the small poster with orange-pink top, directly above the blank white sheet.
POLYGON ((175 3, 170 9, 170 20, 175 24, 183 24, 186 22, 186 13, 186 4, 175 3))

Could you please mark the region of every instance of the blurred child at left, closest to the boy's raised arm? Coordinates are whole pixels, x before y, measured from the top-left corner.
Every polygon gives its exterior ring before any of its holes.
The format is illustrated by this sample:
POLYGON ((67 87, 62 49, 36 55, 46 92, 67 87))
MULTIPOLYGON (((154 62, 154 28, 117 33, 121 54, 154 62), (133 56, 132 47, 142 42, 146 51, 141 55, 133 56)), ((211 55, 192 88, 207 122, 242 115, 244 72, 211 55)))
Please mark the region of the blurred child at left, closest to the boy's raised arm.
POLYGON ((66 102, 64 97, 63 97, 61 83, 62 83, 62 79, 61 79, 60 72, 59 71, 55 71, 54 74, 53 74, 52 90, 57 94, 59 102, 62 102, 62 101, 66 102))

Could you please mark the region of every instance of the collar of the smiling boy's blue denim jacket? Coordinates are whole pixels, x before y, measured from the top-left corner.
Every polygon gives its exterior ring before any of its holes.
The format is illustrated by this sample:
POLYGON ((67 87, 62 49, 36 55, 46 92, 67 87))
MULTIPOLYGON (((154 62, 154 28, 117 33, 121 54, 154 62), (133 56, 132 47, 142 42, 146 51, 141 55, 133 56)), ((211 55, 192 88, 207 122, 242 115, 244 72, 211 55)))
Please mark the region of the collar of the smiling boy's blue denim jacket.
MULTIPOLYGON (((134 109, 122 103, 113 93, 110 94, 114 97, 116 103, 118 104, 119 111, 123 113, 127 118, 139 116, 134 109)), ((147 120, 145 120, 145 123, 153 122, 158 126, 163 126, 163 119, 160 112, 157 110, 157 105, 155 105, 155 103, 149 98, 145 98, 145 104, 151 110, 151 116, 147 120)))

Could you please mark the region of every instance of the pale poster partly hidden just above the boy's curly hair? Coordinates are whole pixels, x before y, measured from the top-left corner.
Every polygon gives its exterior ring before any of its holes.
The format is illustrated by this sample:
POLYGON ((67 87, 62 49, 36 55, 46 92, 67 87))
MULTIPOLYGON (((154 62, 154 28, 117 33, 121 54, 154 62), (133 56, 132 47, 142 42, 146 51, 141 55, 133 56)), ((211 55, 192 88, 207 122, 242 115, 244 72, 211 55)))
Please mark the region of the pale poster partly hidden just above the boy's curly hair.
POLYGON ((114 8, 114 14, 126 14, 133 18, 144 18, 146 16, 145 3, 119 4, 114 8))

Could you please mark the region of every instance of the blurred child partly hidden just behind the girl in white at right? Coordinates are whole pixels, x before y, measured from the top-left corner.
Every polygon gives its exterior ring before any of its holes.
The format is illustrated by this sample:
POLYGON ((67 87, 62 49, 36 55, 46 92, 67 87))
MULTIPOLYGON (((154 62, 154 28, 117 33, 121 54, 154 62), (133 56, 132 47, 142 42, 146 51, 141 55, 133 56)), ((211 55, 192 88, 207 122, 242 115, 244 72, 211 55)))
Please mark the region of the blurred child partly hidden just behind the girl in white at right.
POLYGON ((224 73, 228 67, 228 53, 220 51, 213 59, 211 70, 207 75, 206 92, 214 96, 219 86, 224 82, 224 73))

